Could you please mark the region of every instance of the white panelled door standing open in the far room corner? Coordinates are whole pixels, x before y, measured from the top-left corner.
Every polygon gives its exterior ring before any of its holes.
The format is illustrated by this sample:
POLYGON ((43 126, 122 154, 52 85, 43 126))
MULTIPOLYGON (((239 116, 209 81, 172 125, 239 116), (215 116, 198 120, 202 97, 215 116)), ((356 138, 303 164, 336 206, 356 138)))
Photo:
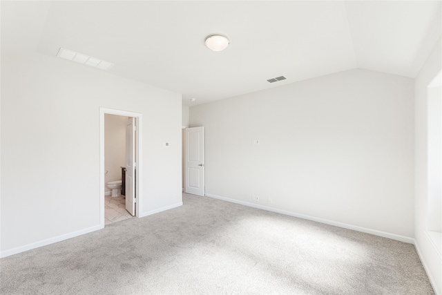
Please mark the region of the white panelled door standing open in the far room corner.
POLYGON ((186 129, 186 193, 204 196, 204 127, 186 129))

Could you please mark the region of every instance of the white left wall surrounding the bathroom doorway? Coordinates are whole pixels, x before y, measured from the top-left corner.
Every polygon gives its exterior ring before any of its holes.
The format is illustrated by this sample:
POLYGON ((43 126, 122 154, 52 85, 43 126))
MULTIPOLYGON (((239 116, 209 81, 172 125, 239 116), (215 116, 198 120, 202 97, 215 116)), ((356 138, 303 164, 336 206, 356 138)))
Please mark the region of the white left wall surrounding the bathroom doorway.
POLYGON ((100 107, 143 115, 141 215, 182 204, 180 94, 37 53, 1 79, 2 255, 99 226, 100 107))

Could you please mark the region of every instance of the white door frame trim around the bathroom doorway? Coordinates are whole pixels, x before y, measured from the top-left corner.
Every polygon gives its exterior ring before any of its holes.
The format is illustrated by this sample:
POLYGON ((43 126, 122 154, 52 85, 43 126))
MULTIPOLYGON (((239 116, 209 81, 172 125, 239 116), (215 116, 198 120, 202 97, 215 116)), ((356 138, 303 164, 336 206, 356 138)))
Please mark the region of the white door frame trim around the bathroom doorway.
POLYGON ((134 117, 137 126, 135 133, 135 159, 137 159, 137 170, 135 178, 137 186, 135 187, 135 196, 137 196, 137 204, 135 209, 135 217, 140 217, 140 208, 142 204, 142 113, 117 110, 115 108, 99 108, 99 225, 104 228, 104 115, 120 115, 124 117, 134 117))

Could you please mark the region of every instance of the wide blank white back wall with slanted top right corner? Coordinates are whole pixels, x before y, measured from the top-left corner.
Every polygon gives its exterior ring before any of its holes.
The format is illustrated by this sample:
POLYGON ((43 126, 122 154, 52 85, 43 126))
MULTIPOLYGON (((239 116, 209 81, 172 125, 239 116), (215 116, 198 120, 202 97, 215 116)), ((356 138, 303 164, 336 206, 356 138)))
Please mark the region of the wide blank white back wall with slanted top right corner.
POLYGON ((349 70, 193 106, 206 195, 412 242, 413 95, 413 79, 349 70))

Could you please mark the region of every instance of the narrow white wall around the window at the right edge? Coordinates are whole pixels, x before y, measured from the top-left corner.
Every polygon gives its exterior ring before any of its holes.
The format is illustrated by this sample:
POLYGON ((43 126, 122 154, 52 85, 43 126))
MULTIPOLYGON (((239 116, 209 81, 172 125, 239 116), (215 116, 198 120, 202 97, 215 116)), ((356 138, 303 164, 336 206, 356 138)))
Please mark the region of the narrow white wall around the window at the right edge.
MULTIPOLYGON (((416 248, 419 251, 421 260, 427 271, 430 280, 436 289, 436 294, 442 294, 442 258, 437 251, 436 245, 432 243, 427 232, 428 227, 428 204, 429 204, 429 182, 428 175, 428 113, 429 106, 427 96, 427 86, 432 79, 441 71, 441 39, 434 47, 425 65, 419 72, 415 81, 415 238, 416 248)), ((431 150, 431 149, 430 149, 431 150)), ((440 151, 439 151, 440 152, 440 151)), ((442 208, 439 208, 442 210, 442 208)), ((440 246, 440 245, 439 245, 440 246)))

